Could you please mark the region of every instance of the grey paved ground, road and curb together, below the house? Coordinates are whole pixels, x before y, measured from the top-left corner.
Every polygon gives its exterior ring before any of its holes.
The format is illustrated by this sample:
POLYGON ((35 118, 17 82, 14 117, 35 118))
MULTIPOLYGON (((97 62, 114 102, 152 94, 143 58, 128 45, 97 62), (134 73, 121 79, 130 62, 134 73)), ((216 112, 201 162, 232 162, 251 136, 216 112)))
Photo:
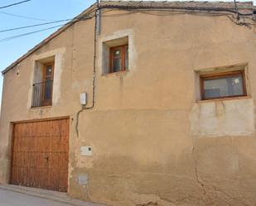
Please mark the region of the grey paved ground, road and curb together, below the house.
POLYGON ((106 206, 79 199, 65 193, 16 185, 0 185, 0 206, 106 206))

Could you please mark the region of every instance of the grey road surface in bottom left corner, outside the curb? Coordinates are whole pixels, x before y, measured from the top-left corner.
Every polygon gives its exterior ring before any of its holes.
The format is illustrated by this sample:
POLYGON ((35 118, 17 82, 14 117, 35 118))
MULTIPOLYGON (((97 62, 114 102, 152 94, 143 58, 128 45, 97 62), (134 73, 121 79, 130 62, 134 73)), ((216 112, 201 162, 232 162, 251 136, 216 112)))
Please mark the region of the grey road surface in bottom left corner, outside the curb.
POLYGON ((70 206, 48 199, 0 189, 0 206, 70 206))

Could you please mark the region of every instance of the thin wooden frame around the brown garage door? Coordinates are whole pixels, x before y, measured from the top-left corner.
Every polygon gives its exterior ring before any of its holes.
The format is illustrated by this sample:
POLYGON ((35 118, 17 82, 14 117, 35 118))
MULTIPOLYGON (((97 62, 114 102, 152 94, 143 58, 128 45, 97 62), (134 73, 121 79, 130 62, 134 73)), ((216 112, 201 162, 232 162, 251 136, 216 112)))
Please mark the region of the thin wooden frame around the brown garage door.
MULTIPOLYGON (((28 123, 28 122, 46 122, 46 121, 54 121, 54 120, 65 120, 65 119, 69 119, 70 120, 70 116, 63 116, 63 117, 50 117, 50 118, 41 118, 41 119, 30 119, 30 120, 22 120, 22 121, 16 121, 16 122, 10 122, 11 127, 10 127, 10 134, 11 134, 11 146, 10 146, 10 165, 9 167, 9 176, 8 176, 8 184, 12 184, 12 162, 13 162, 13 152, 14 152, 14 131, 15 131, 15 125, 19 124, 19 123, 28 123)), ((70 122, 69 122, 69 128, 70 128, 70 122)), ((68 142, 68 161, 70 161, 70 129, 69 129, 69 138, 68 138, 69 142, 68 142)), ((68 163, 68 174, 69 174, 69 163, 68 163)), ((69 176, 68 176, 68 187, 67 187, 67 192, 69 189, 69 176)))

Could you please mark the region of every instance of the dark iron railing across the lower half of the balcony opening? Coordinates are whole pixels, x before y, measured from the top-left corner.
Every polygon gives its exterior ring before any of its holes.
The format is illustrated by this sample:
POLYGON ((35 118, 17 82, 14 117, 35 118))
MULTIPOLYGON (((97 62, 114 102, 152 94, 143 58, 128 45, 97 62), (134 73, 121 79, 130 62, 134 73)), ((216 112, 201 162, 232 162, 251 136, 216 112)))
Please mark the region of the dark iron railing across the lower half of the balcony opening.
POLYGON ((51 105, 53 81, 33 84, 32 108, 51 105))

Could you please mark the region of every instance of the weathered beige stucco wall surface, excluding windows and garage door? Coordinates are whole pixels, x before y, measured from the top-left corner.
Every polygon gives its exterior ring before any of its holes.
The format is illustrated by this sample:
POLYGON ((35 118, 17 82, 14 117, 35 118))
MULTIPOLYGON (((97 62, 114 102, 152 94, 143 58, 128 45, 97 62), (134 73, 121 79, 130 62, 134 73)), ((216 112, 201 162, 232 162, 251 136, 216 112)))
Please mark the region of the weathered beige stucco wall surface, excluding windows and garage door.
POLYGON ((102 17, 96 49, 95 106, 80 113, 79 137, 80 93, 92 104, 94 19, 4 75, 0 183, 9 174, 10 122, 70 116, 72 197, 114 206, 256 204, 253 29, 203 15, 102 17), (129 70, 104 74, 103 42, 123 36, 129 70), (54 103, 31 109, 33 65, 47 55, 57 58, 54 103), (248 97, 197 101, 196 71, 239 64, 247 65, 248 97), (81 156, 80 146, 92 146, 93 156, 81 156))

